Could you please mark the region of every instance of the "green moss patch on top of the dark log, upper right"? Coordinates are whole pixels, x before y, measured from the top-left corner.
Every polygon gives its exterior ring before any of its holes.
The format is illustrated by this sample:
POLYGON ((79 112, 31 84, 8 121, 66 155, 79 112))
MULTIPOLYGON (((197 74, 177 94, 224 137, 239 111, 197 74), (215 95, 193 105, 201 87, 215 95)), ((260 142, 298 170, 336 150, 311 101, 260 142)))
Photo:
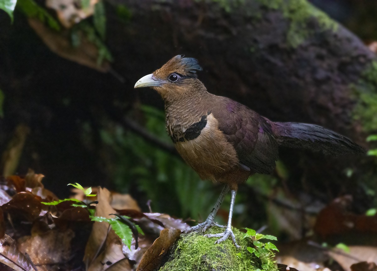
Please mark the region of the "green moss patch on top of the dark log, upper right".
POLYGON ((337 31, 338 24, 307 0, 256 0, 269 9, 282 11, 283 17, 289 20, 287 43, 296 48, 315 33, 308 27, 314 18, 322 31, 337 31))

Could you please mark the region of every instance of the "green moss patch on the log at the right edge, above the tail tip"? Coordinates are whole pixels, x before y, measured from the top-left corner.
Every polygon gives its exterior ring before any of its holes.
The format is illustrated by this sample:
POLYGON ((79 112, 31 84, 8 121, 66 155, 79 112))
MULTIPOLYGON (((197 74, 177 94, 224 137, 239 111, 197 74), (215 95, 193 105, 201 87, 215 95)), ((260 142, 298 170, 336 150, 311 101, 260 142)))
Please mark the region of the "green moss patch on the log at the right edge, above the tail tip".
POLYGON ((356 96, 352 117, 368 134, 377 132, 377 61, 372 61, 350 88, 356 96))

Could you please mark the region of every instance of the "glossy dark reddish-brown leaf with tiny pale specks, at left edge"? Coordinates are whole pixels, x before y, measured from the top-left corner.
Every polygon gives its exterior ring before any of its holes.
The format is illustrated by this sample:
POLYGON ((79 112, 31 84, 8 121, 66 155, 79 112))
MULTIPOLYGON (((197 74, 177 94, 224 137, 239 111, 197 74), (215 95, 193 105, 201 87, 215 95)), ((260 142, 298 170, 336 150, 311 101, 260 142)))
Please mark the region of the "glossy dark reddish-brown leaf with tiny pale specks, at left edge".
POLYGON ((2 206, 4 212, 11 216, 22 215, 29 221, 34 221, 42 210, 42 204, 37 196, 30 192, 20 192, 15 194, 12 199, 2 206))

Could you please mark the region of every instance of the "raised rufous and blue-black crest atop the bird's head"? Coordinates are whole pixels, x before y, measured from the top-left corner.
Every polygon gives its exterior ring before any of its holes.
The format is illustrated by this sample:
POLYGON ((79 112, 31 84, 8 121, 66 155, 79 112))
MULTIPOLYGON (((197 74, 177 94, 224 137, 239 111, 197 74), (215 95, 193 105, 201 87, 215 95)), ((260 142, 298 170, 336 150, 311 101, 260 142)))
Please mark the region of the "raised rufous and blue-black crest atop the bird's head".
POLYGON ((169 74, 176 72, 185 77, 196 78, 196 71, 202 70, 203 69, 199 65, 198 60, 191 57, 185 57, 185 55, 176 55, 161 68, 153 72, 153 75, 157 78, 165 78, 169 74))

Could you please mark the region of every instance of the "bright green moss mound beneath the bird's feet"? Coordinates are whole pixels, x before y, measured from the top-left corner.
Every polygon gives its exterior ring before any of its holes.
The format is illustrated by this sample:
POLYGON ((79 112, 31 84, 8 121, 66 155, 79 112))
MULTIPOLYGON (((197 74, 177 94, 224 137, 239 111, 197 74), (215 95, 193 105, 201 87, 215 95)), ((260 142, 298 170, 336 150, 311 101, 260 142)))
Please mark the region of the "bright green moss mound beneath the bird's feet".
MULTIPOLYGON (((220 233, 224 229, 212 227, 206 233, 220 233)), ((261 255, 257 258, 247 251, 247 246, 252 246, 250 238, 243 238, 244 234, 234 229, 234 234, 241 249, 236 249, 230 239, 220 244, 215 244, 216 238, 204 237, 201 233, 182 234, 176 243, 170 260, 161 267, 160 271, 177 270, 227 270, 227 271, 253 271, 265 269, 276 271, 273 253, 261 255), (262 268, 262 266, 264 268, 262 268)))

